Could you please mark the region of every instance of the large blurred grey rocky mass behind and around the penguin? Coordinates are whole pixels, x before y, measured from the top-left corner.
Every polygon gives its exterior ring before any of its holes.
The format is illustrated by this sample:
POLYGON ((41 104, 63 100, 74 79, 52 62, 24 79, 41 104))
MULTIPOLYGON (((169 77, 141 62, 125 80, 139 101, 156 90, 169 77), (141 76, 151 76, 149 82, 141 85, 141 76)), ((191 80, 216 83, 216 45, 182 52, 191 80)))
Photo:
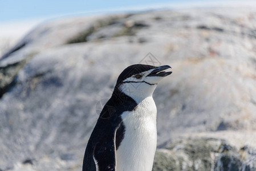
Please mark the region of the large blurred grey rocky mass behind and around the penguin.
POLYGON ((153 95, 153 170, 256 170, 256 9, 42 23, 0 57, 0 170, 81 170, 101 104, 135 64, 168 64, 153 95))

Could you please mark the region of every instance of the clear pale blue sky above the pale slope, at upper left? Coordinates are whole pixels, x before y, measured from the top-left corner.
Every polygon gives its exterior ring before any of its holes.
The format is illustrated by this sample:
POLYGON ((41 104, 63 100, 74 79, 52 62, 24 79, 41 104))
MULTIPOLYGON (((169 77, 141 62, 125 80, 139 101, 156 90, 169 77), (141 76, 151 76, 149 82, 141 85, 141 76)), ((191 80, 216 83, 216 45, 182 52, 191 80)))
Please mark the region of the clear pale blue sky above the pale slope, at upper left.
MULTIPOLYGON (((186 0, 182 0, 186 1, 186 0)), ((194 0, 192 0, 194 1, 194 0)), ((66 0, 0 0, 0 22, 17 21, 21 19, 42 18, 74 13, 90 13, 107 9, 147 6, 159 3, 178 2, 177 0, 129 0, 129 1, 66 1, 66 0)), ((191 2, 191 1, 190 1, 191 2)))

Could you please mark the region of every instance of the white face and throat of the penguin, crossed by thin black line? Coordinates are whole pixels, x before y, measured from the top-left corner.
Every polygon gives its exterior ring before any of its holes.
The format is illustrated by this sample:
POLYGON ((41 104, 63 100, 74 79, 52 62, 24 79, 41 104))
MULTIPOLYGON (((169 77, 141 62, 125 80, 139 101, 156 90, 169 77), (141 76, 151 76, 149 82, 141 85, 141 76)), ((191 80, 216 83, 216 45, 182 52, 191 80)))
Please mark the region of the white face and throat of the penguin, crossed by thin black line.
POLYGON ((132 75, 123 80, 119 87, 120 91, 132 97, 137 102, 142 101, 148 96, 152 96, 157 83, 164 78, 164 76, 148 76, 153 70, 155 69, 132 75))

